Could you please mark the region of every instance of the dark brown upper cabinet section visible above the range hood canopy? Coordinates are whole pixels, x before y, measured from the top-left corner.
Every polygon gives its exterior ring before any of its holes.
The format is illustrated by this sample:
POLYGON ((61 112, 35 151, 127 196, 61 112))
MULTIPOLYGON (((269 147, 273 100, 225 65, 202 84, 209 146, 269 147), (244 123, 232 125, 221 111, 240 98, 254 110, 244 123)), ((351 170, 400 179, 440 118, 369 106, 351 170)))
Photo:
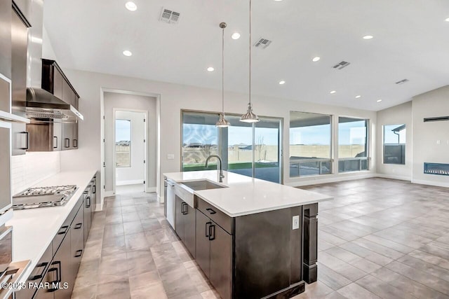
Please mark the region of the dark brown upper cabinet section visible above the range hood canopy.
POLYGON ((79 95, 55 60, 42 59, 42 88, 78 108, 79 95))

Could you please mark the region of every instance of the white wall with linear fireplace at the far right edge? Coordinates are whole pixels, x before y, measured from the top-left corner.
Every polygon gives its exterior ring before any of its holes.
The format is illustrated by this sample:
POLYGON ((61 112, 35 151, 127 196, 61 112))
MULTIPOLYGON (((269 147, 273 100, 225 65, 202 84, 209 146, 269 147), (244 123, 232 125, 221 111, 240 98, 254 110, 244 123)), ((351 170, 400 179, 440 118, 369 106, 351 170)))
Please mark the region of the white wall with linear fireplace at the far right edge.
POLYGON ((449 85, 413 97, 412 182, 449 187, 449 176, 424 174, 424 162, 449 164, 449 121, 423 121, 436 116, 449 116, 449 85))

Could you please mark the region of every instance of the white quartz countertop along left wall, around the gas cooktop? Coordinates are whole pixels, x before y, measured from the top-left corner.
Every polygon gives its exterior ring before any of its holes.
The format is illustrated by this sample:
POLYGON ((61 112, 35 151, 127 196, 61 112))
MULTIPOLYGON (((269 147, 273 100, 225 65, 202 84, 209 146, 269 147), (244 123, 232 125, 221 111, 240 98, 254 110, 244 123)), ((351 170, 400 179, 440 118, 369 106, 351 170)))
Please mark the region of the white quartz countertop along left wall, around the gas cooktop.
POLYGON ((32 186, 76 185, 74 195, 62 207, 13 211, 13 218, 6 222, 6 225, 13 226, 13 262, 31 260, 27 271, 18 282, 27 280, 95 173, 95 170, 60 172, 32 186))

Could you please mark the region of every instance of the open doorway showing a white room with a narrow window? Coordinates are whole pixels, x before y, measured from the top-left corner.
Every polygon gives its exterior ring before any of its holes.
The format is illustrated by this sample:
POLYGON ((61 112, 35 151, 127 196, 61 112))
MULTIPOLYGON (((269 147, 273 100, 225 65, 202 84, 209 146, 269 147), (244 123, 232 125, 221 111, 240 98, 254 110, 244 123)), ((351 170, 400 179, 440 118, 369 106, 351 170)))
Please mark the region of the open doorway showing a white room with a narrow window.
POLYGON ((146 192, 147 111, 114 109, 116 194, 146 192))

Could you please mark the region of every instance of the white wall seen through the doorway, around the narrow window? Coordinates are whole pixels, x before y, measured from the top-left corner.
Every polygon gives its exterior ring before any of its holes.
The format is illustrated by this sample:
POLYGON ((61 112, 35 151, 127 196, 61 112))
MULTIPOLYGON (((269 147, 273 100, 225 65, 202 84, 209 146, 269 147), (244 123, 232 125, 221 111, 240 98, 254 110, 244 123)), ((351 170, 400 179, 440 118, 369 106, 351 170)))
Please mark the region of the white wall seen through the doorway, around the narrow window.
MULTIPOLYGON (((116 111, 115 119, 130 120, 131 152, 130 167, 116 167, 116 185, 143 183, 145 179, 145 113, 116 111)), ((107 128, 105 128, 107 130, 107 128)), ((112 140, 114 141, 114 140, 112 140)), ((114 144, 112 145, 114 148, 114 144)), ((156 169, 156 165, 154 165, 156 169)), ((154 172, 155 174, 155 172, 154 172)), ((156 187, 156 181, 154 181, 156 187)))

